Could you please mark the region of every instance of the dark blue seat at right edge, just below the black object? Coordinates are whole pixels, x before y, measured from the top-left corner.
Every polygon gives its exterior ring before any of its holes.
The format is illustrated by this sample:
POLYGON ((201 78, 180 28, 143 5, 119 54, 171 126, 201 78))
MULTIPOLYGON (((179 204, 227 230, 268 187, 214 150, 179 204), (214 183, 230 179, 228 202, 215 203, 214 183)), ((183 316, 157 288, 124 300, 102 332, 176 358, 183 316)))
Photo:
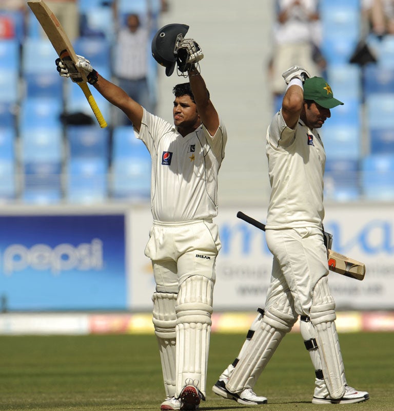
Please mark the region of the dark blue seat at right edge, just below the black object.
POLYGON ((364 68, 365 95, 374 93, 394 93, 394 68, 367 64, 364 68))

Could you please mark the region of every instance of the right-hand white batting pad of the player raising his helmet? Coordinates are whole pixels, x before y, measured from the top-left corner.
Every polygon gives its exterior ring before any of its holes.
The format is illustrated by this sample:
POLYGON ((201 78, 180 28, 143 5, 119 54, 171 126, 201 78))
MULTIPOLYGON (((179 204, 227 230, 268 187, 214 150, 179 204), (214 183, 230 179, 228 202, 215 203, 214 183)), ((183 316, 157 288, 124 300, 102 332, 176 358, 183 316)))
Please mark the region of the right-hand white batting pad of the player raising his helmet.
POLYGON ((181 284, 175 307, 175 397, 181 394, 185 385, 191 383, 205 396, 212 293, 212 281, 201 275, 189 277, 181 284))

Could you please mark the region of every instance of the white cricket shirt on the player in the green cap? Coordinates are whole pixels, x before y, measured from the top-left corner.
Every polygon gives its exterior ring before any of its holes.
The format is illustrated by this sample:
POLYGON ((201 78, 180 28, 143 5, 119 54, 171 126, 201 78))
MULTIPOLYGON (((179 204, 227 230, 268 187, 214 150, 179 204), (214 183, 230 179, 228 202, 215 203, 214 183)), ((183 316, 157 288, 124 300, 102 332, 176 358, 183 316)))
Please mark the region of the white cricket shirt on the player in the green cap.
POLYGON ((281 109, 268 127, 266 154, 271 184, 266 228, 322 228, 326 154, 317 130, 301 119, 295 129, 287 127, 281 109))

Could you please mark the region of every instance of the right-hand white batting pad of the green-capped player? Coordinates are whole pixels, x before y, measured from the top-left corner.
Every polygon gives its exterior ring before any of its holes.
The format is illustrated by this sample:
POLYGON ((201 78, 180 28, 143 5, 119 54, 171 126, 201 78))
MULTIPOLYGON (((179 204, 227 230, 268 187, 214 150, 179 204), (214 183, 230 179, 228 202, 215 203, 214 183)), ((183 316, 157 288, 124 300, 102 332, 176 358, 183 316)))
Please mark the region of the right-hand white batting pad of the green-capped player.
POLYGON ((310 321, 316 329, 323 378, 333 399, 343 397, 346 385, 335 319, 335 303, 328 288, 327 277, 323 277, 313 290, 310 321))

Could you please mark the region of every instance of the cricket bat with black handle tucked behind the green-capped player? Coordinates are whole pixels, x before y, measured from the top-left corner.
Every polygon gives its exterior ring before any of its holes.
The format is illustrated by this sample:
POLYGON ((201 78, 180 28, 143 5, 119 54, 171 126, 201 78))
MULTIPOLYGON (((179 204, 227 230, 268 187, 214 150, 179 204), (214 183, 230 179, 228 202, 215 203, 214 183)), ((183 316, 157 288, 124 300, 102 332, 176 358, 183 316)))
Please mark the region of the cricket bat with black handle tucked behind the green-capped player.
MULTIPOLYGON (((249 217, 242 211, 237 213, 237 217, 248 222, 252 226, 259 228, 260 230, 265 231, 265 224, 249 217)), ((350 278, 359 279, 360 281, 364 279, 365 276, 365 265, 363 263, 330 249, 328 250, 328 268, 333 272, 350 278)))

